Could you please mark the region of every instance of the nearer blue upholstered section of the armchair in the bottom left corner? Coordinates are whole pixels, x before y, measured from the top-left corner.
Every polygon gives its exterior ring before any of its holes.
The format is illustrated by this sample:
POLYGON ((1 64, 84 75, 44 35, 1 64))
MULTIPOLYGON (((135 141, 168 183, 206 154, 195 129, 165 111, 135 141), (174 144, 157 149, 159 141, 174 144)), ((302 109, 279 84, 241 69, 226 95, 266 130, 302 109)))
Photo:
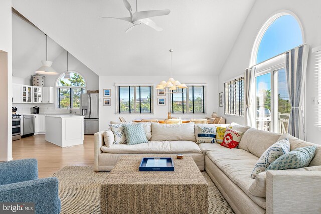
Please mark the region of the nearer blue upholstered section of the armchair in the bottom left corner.
POLYGON ((59 213, 58 179, 50 177, 1 185, 0 202, 35 203, 36 213, 59 213))

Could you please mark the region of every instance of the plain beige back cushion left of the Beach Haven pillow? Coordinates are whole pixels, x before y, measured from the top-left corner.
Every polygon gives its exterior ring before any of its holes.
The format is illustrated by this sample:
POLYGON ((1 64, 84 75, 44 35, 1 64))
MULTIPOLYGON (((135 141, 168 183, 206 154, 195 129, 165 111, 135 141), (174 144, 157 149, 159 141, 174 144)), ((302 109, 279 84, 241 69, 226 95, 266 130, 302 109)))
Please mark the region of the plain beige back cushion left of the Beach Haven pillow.
POLYGON ((182 124, 151 124, 152 141, 187 140, 196 142, 194 123, 182 124))

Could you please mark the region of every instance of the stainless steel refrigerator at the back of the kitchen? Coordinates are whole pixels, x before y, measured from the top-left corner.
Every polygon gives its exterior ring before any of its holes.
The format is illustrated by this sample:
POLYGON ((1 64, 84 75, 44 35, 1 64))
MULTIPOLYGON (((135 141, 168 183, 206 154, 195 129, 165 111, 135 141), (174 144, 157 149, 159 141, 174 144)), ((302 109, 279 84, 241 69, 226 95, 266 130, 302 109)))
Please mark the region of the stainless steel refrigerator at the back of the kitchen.
POLYGON ((80 114, 84 118, 84 134, 99 131, 99 96, 98 94, 80 95, 80 114))

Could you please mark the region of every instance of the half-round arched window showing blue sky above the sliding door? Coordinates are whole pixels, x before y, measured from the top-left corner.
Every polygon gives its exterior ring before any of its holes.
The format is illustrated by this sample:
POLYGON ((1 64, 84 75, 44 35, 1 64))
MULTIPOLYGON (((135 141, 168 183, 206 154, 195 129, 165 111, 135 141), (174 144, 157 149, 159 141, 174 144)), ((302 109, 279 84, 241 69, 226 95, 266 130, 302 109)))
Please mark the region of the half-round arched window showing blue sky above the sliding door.
POLYGON ((251 65, 303 44, 301 24, 294 14, 278 13, 266 21, 255 40, 251 65))

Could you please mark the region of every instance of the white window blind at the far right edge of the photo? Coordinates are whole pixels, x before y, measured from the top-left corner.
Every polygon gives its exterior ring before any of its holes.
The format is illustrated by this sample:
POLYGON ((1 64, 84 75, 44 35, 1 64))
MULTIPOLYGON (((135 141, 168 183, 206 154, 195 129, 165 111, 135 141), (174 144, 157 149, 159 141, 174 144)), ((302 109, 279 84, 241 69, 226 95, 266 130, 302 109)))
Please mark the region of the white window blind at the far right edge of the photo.
POLYGON ((321 127, 321 47, 316 47, 315 49, 312 49, 312 52, 315 54, 315 74, 317 80, 317 110, 315 115, 315 125, 317 127, 321 127))

